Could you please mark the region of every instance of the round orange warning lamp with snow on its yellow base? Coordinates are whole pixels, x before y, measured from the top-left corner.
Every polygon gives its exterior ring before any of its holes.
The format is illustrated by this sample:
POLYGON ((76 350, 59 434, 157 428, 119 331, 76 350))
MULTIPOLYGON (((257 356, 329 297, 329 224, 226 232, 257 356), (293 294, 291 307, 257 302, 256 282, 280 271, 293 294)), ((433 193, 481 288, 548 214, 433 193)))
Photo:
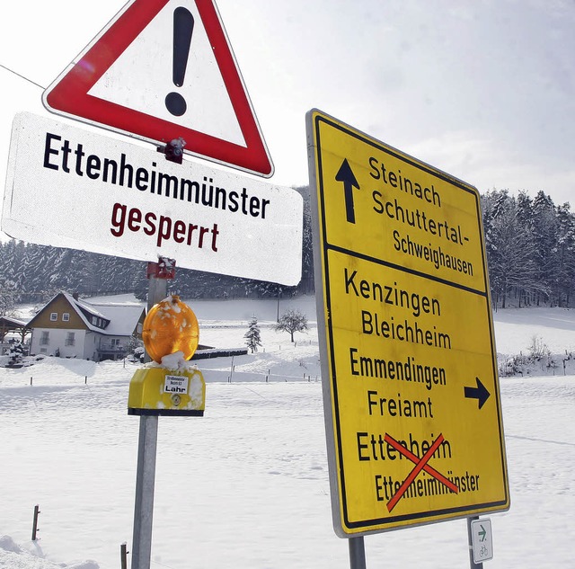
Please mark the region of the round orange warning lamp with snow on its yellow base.
POLYGON ((198 319, 180 297, 172 295, 150 309, 142 339, 150 358, 157 363, 176 351, 183 353, 184 360, 190 360, 198 348, 198 319))

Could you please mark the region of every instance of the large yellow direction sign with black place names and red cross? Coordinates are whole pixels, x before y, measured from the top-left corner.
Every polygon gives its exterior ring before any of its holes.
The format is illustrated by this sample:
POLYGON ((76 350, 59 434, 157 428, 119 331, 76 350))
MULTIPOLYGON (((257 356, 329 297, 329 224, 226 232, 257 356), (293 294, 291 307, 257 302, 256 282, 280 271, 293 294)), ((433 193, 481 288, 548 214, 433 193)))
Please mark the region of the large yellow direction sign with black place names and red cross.
POLYGON ((479 194, 307 114, 341 537, 509 508, 479 194))

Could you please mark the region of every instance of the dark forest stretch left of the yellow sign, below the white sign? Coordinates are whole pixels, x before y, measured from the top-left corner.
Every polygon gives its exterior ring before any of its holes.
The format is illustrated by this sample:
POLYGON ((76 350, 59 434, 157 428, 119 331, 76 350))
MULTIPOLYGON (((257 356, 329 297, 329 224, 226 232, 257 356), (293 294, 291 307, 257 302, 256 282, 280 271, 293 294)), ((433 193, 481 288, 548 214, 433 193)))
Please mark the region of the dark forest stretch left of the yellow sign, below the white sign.
MULTIPOLYGON (((304 196, 305 207, 302 280, 296 287, 181 269, 176 259, 170 291, 183 298, 287 298, 313 293, 309 191, 307 187, 297 191, 304 196)), ((7 314, 16 303, 48 301, 60 290, 86 296, 135 293, 145 299, 146 262, 13 239, 0 242, 0 314, 7 314)))

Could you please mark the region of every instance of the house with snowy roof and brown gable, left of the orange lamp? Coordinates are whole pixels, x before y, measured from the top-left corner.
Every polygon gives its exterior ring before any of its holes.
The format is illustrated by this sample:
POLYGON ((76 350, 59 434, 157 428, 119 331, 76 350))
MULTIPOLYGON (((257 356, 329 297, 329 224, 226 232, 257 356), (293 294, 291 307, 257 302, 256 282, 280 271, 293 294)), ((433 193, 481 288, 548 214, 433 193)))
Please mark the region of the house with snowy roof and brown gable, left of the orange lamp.
POLYGON ((146 310, 140 305, 91 304, 60 292, 34 316, 31 355, 121 360, 132 334, 141 337, 146 310))

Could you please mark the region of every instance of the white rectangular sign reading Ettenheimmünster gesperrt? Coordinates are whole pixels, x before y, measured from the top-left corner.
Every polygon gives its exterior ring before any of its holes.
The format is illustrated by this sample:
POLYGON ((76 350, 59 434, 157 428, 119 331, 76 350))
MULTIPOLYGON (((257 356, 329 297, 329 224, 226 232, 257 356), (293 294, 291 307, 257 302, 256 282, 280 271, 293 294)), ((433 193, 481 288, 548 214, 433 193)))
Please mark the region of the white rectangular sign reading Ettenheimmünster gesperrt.
POLYGON ((13 121, 2 230, 36 244, 296 285, 303 200, 30 113, 13 121))

